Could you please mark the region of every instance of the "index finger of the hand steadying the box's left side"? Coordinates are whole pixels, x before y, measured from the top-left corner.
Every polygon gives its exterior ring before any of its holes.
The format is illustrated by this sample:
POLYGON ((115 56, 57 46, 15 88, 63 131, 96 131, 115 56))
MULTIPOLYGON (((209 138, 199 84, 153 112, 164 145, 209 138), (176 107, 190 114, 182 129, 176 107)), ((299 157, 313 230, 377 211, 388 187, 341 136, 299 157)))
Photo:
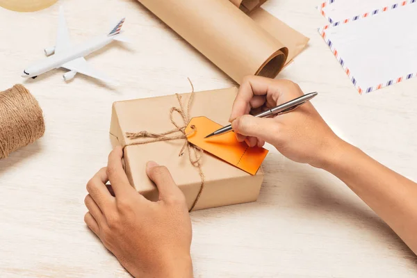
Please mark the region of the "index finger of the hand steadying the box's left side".
POLYGON ((108 155, 107 175, 108 180, 111 183, 111 187, 115 193, 115 197, 119 197, 124 194, 131 194, 133 187, 127 179, 126 173, 123 170, 122 165, 123 149, 122 147, 115 147, 113 151, 108 155))

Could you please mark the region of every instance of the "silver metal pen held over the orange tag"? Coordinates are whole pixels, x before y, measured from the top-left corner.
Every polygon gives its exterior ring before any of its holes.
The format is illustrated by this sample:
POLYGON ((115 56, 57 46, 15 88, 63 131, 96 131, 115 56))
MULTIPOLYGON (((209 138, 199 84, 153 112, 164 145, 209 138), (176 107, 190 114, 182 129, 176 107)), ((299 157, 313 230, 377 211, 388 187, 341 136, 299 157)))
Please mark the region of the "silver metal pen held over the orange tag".
MULTIPOLYGON (((291 112, 295 108, 298 108, 302 106, 303 104, 305 104, 307 101, 310 101, 313 97, 316 97, 316 95, 318 95, 317 92, 310 92, 309 94, 306 94, 301 97, 297 97, 296 99, 293 99, 291 101, 288 101, 285 104, 281 104, 267 111, 263 111, 262 113, 254 115, 254 117, 269 117, 272 115, 281 115, 284 113, 291 112)), ((229 124, 228 126, 224 126, 221 129, 218 129, 214 131, 213 133, 208 134, 208 136, 206 136, 205 138, 209 138, 212 136, 219 136, 221 134, 230 132, 232 130, 233 129, 231 128, 231 124, 229 124)))

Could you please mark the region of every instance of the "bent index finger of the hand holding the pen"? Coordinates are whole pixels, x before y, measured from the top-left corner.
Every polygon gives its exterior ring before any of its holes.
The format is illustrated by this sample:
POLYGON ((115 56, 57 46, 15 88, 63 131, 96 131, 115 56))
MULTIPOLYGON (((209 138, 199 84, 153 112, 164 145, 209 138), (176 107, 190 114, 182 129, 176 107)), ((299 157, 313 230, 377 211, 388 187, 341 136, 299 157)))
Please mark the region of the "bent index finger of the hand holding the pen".
POLYGON ((234 101, 233 108, 231 108, 231 115, 229 122, 236 120, 236 118, 249 114, 251 100, 254 96, 263 96, 268 92, 270 84, 273 79, 268 79, 262 76, 247 76, 243 79, 238 91, 238 95, 234 101))

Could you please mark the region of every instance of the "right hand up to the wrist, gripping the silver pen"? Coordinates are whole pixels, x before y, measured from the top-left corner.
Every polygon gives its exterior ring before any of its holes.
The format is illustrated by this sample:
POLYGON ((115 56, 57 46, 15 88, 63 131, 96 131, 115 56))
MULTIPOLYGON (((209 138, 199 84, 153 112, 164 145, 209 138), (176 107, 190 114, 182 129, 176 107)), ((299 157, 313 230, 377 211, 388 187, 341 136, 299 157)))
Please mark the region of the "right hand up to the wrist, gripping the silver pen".
POLYGON ((315 167, 331 163, 343 141, 310 102, 275 117, 252 116, 302 95, 300 87, 291 81, 247 76, 240 85, 230 116, 238 140, 245 140, 250 147, 262 147, 269 142, 287 158, 315 167))

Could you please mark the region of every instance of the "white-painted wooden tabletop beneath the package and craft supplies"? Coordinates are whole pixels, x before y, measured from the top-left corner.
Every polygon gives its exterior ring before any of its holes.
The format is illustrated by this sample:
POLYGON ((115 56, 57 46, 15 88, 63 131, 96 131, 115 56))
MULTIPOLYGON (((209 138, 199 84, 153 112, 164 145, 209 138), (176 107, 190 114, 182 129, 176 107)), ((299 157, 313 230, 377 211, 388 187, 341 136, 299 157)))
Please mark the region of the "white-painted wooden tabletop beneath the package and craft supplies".
MULTIPOLYGON (((20 74, 56 37, 58 5, 38 13, 0 8, 0 89, 24 83, 38 99, 47 132, 0 161, 0 277, 129 277, 85 227, 85 183, 106 164, 113 101, 234 85, 134 0, 65 4, 74 42, 108 31, 126 16, 133 44, 88 57, 120 81, 107 88, 63 70, 35 81, 20 74)), ((316 28, 309 0, 264 7, 311 38, 279 77, 318 91, 318 111, 339 136, 411 179, 417 178, 417 79, 360 96, 316 28)), ((265 161, 258 202, 191 213, 196 277, 416 277, 417 259, 393 231, 338 179, 288 161, 265 161)))

